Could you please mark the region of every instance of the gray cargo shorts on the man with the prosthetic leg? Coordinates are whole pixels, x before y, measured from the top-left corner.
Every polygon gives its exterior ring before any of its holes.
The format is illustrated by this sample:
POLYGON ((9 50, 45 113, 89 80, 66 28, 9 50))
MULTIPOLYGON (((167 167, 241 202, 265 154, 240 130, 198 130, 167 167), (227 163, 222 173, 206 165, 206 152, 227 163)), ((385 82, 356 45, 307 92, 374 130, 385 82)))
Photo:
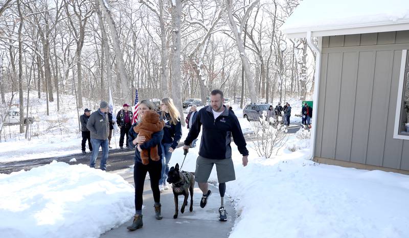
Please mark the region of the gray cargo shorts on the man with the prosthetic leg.
POLYGON ((217 179, 219 183, 225 183, 236 179, 232 158, 226 159, 208 159, 199 155, 196 160, 195 181, 206 183, 209 180, 210 173, 216 164, 217 179))

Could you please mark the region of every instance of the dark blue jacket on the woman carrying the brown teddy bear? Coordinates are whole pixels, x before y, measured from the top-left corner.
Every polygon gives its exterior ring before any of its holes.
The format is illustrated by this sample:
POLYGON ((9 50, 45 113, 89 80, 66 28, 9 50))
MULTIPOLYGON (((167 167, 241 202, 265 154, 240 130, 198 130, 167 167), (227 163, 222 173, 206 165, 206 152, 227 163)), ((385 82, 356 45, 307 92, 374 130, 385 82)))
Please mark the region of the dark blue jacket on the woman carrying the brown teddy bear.
MULTIPOLYGON (((132 140, 134 140, 135 138, 137 138, 138 133, 136 133, 133 130, 133 127, 135 127, 136 125, 138 125, 138 123, 134 123, 131 126, 131 129, 129 129, 129 136, 128 136, 128 145, 132 148, 135 148, 135 145, 133 145, 132 140)), ((150 148, 157 146, 157 154, 159 155, 159 158, 162 159, 162 147, 161 147, 161 141, 162 141, 162 137, 163 137, 163 130, 159 131, 159 132, 154 132, 152 134, 152 139, 146 141, 144 144, 141 145, 141 149, 145 150, 145 149, 149 149, 150 152, 150 148)), ((139 162, 142 163, 142 159, 141 159, 141 154, 138 151, 138 149, 135 149, 135 162, 139 162)), ((150 153, 149 153, 149 159, 150 159, 150 153)))

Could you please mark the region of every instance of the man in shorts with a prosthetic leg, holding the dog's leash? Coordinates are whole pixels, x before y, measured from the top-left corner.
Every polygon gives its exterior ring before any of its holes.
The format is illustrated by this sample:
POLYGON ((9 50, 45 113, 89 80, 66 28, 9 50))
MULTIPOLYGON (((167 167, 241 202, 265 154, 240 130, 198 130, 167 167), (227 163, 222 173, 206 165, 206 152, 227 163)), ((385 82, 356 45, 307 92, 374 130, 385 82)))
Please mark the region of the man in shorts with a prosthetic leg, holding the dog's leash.
POLYGON ((219 220, 227 221, 226 210, 223 206, 226 182, 236 179, 232 160, 232 148, 230 147, 230 135, 233 134, 233 140, 240 154, 243 155, 243 166, 247 165, 248 151, 236 115, 230 112, 229 108, 223 106, 222 91, 213 90, 210 97, 210 106, 200 109, 197 113, 197 118, 192 124, 188 137, 185 140, 184 150, 189 150, 192 141, 199 135, 200 127, 203 128, 203 131, 195 171, 195 180, 203 192, 200 207, 204 208, 206 206, 207 199, 211 195, 211 191, 208 189, 208 179, 212 172, 213 164, 216 164, 221 197, 219 220))

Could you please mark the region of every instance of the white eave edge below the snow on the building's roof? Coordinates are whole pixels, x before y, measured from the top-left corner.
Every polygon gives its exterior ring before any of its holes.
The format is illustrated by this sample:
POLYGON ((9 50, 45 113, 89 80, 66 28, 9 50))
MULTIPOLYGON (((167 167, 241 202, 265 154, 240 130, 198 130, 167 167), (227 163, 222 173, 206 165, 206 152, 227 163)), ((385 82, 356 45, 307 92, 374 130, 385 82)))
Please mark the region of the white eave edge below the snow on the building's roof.
POLYGON ((283 29, 288 38, 306 38, 307 32, 311 32, 312 37, 353 35, 376 32, 405 31, 409 30, 409 20, 397 21, 394 23, 374 22, 370 24, 349 25, 342 27, 305 27, 295 29, 283 29))

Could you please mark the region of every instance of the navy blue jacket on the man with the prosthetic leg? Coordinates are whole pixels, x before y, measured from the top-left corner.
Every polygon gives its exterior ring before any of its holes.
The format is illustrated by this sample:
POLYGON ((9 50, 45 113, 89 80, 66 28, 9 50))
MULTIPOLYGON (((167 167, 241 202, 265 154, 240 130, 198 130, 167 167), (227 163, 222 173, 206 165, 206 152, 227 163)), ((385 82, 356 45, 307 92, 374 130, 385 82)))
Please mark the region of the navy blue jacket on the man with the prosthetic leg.
POLYGON ((239 120, 234 113, 226 109, 216 120, 212 107, 206 106, 197 113, 196 121, 190 128, 185 145, 190 145, 197 138, 202 126, 199 155, 208 159, 226 159, 232 157, 231 134, 240 154, 248 155, 246 141, 241 131, 239 120))

